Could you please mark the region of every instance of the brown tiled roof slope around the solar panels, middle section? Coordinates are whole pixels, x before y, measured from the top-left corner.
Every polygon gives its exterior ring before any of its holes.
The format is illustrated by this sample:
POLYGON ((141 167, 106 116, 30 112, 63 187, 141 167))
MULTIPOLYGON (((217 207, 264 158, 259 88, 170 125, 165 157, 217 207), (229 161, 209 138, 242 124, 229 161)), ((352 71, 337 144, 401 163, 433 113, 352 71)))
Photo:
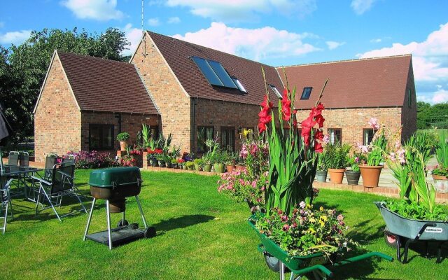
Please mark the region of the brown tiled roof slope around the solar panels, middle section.
MULTIPOLYGON (((258 105, 265 94, 262 67, 265 69, 267 83, 275 85, 281 92, 281 79, 272 66, 151 31, 148 31, 148 34, 190 97, 258 105), (220 62, 230 76, 239 79, 248 93, 241 94, 239 90, 209 85, 195 62, 190 59, 193 56, 220 62)), ((278 98, 271 90, 269 92, 269 97, 275 105, 278 98)))

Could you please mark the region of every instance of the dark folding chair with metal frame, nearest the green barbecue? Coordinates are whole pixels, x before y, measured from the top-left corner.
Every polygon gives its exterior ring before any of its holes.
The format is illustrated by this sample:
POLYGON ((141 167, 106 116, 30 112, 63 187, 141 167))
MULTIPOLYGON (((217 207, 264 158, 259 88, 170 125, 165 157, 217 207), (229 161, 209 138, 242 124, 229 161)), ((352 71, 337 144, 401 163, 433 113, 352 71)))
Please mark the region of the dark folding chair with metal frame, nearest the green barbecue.
POLYGON ((62 221, 61 218, 64 216, 68 216, 73 214, 73 212, 69 214, 65 214, 59 216, 55 207, 60 207, 62 204, 62 197, 69 195, 74 196, 78 199, 81 207, 83 209, 79 209, 76 211, 84 211, 87 213, 87 209, 85 209, 83 202, 80 200, 78 193, 76 193, 76 188, 73 187, 73 175, 75 173, 75 162, 63 162, 56 164, 52 169, 52 179, 51 181, 46 181, 45 179, 38 178, 36 176, 32 176, 32 178, 39 183, 39 190, 36 200, 36 215, 38 214, 38 205, 41 204, 42 209, 52 208, 55 212, 59 221, 62 221), (41 202, 42 197, 42 202, 41 202), (45 207, 43 202, 48 202, 50 206, 45 207))

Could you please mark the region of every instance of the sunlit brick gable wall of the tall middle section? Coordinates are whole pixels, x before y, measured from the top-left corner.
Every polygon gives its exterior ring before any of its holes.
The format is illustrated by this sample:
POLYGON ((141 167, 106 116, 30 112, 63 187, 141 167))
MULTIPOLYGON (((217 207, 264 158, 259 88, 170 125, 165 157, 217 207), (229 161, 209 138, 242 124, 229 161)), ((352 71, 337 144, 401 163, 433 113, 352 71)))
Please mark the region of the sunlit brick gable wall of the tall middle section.
POLYGON ((146 51, 140 43, 131 63, 144 80, 146 88, 160 110, 161 127, 165 137, 173 134, 173 144, 181 151, 190 151, 190 97, 184 92, 167 62, 146 34, 146 51), (143 55, 143 53, 146 55, 143 55))

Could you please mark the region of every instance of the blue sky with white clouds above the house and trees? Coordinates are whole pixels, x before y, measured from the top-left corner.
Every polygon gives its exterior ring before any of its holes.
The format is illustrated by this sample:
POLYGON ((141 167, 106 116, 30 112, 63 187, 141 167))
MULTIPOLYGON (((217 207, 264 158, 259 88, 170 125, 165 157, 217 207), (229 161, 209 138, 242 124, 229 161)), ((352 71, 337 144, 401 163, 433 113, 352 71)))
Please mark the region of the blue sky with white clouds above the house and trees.
MULTIPOLYGON (((1 1, 0 44, 31 30, 141 37, 141 0, 1 1)), ((417 99, 448 102, 448 1, 145 0, 144 29, 273 66, 412 53, 417 99)))

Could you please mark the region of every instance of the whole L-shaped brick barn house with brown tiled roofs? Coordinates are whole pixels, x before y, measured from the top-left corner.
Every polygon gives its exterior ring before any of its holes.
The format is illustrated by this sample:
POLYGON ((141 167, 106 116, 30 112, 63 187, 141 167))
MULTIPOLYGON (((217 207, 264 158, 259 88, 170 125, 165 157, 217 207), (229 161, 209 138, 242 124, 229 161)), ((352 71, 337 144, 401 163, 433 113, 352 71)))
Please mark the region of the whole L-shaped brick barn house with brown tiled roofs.
MULTIPOLYGON (((55 52, 34 110, 36 160, 50 151, 99 150, 91 145, 96 139, 107 144, 102 148, 118 149, 116 134, 130 132, 134 142, 141 123, 171 133, 182 151, 202 153, 205 139, 212 137, 238 151, 239 132, 258 124, 265 94, 262 68, 275 105, 283 88, 281 68, 151 31, 144 33, 130 63, 55 52)), ((330 78, 322 102, 332 139, 368 141, 370 117, 392 128, 403 125, 404 137, 416 129, 410 55, 285 70, 290 86, 297 87, 300 110, 314 104, 330 78), (308 100, 301 99, 303 94, 308 100)))

